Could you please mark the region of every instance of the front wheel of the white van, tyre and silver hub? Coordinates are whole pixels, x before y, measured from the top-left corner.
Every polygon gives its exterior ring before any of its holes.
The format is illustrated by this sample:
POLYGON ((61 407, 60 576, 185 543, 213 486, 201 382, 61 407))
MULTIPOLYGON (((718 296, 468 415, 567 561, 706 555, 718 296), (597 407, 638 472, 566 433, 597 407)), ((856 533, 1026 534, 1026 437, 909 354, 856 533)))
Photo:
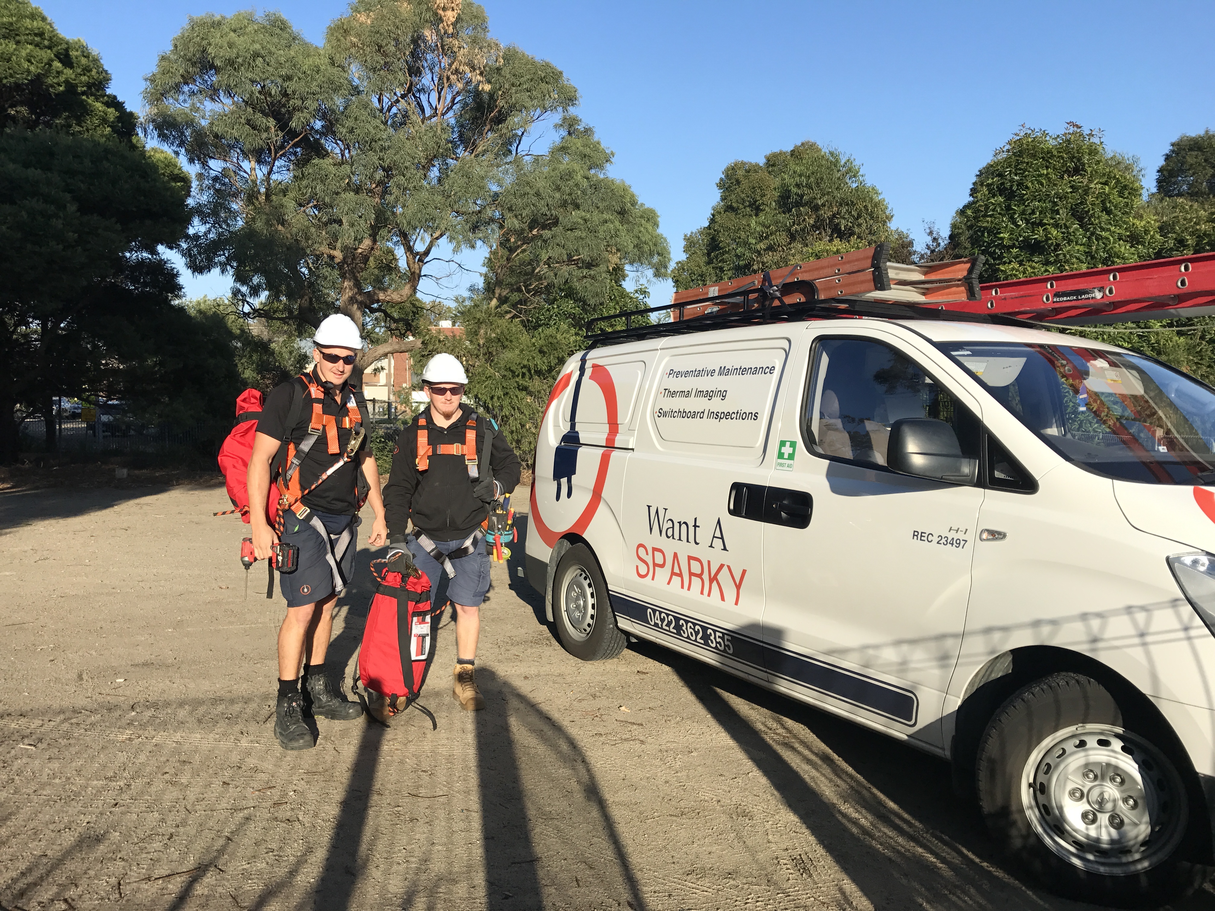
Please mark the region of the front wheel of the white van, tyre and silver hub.
MULTIPOLYGON (((1157 739, 1158 740, 1158 739, 1157 739)), ((1096 680, 1052 674, 1013 694, 977 763, 991 837, 1044 888, 1115 907, 1157 907, 1209 870, 1179 855, 1192 820, 1185 783, 1149 732, 1096 680)))

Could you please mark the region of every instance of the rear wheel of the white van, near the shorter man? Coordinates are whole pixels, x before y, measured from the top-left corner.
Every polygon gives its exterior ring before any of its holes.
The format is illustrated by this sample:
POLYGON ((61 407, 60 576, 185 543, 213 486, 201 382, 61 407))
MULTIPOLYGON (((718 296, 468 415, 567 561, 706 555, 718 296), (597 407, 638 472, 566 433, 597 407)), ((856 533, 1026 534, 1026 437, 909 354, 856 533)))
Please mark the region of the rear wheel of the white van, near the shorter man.
POLYGON ((599 561, 586 544, 571 547, 556 565, 553 619, 561 645, 583 661, 615 658, 628 644, 616 628, 599 561))

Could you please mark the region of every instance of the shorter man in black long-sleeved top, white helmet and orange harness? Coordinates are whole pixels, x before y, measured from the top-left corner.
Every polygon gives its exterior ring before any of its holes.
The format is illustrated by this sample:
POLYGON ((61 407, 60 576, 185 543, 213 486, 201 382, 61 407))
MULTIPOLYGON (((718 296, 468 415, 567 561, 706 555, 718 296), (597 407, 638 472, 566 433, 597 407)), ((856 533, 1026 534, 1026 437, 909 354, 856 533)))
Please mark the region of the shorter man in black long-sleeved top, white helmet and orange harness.
POLYGON ((426 363, 422 389, 430 404, 397 436, 384 503, 390 543, 409 549, 435 587, 436 605, 445 596, 453 605, 452 690, 462 708, 476 711, 485 708, 474 661, 480 606, 490 590, 481 522, 490 504, 519 483, 520 465, 497 424, 460 403, 467 384, 464 367, 451 355, 426 363))

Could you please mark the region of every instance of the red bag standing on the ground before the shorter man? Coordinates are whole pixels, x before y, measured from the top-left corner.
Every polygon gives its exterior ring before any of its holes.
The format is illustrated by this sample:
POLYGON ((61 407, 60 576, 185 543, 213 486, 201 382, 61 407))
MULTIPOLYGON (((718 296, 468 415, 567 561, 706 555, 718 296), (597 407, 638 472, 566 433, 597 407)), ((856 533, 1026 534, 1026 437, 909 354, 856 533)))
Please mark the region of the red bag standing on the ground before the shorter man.
MULTIPOLYGON (((434 632, 443 607, 430 604, 430 579, 408 559, 372 560, 372 575, 379 581, 352 688, 362 684, 367 691, 367 711, 378 720, 389 720, 414 705, 426 672, 435 657, 434 632), (399 570, 390 570, 396 566, 399 570), (417 575, 414 575, 417 573, 417 575)), ((445 605, 446 606, 446 605, 445 605)), ((435 717, 420 705, 418 709, 437 726, 435 717)))

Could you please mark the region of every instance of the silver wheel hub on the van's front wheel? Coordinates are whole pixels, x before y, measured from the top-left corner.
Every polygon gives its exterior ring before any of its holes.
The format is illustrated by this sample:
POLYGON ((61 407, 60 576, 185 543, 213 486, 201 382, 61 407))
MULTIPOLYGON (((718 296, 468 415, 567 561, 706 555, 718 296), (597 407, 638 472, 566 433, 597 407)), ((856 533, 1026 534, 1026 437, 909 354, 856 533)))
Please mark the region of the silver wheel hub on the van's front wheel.
POLYGON ((1046 737, 1022 779, 1025 815, 1046 845, 1081 870, 1151 870, 1186 831, 1172 763, 1120 728, 1081 724, 1046 737))

